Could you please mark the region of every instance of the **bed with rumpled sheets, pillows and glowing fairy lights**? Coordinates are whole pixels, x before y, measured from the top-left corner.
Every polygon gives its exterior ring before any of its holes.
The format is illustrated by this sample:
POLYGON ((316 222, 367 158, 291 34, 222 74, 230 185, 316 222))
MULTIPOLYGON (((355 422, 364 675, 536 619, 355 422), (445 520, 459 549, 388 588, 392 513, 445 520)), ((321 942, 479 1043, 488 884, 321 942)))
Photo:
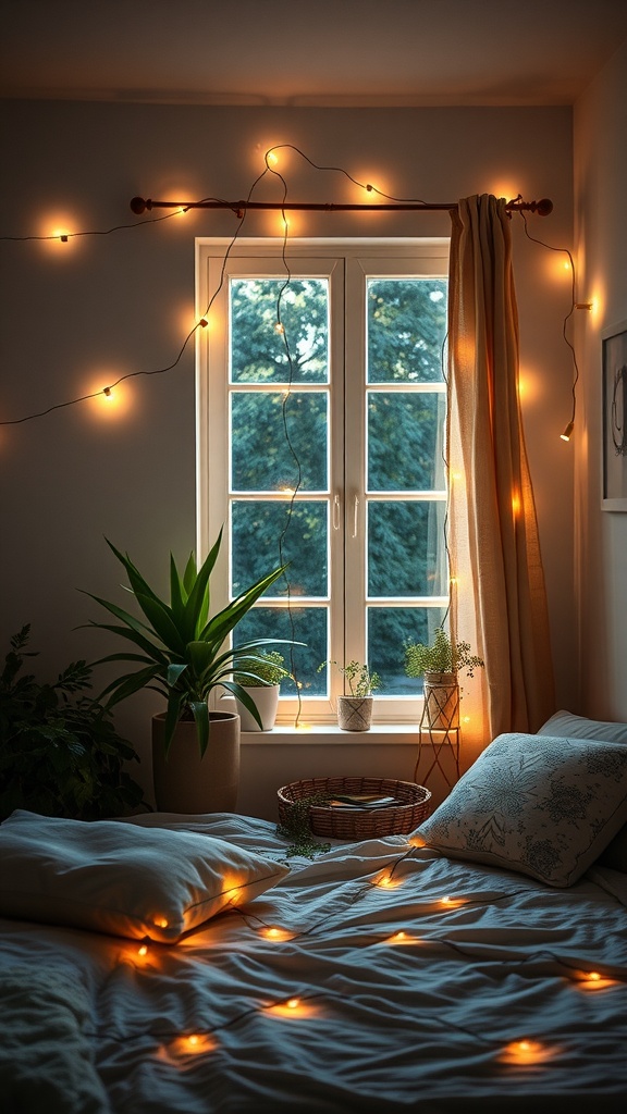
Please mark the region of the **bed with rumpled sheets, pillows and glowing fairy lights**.
POLYGON ((626 744, 559 713, 314 859, 230 813, 13 813, 2 1110, 623 1112, 626 744))

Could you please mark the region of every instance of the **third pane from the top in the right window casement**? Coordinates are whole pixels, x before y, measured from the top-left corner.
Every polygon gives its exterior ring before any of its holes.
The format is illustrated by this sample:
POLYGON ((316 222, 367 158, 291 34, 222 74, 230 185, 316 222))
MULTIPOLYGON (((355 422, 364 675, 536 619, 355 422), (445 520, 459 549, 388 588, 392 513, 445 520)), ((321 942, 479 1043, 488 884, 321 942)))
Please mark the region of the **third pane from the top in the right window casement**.
POLYGON ((368 595, 444 596, 442 502, 368 504, 368 595))

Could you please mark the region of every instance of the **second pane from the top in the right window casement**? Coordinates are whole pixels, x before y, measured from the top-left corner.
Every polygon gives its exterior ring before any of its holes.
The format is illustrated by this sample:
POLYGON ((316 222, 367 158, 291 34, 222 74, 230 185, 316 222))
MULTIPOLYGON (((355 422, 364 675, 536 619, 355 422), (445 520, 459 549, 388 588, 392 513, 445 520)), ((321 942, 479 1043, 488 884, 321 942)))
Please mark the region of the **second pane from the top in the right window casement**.
POLYGON ((443 491, 446 397, 368 391, 368 490, 443 491))

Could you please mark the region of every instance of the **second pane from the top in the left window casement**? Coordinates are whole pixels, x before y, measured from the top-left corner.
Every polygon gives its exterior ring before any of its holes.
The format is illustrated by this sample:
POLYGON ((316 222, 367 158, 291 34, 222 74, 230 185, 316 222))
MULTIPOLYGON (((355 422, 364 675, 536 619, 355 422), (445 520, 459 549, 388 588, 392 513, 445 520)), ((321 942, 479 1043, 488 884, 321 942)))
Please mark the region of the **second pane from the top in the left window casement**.
POLYGON ((234 392, 231 490, 328 490, 327 405, 327 391, 234 392))

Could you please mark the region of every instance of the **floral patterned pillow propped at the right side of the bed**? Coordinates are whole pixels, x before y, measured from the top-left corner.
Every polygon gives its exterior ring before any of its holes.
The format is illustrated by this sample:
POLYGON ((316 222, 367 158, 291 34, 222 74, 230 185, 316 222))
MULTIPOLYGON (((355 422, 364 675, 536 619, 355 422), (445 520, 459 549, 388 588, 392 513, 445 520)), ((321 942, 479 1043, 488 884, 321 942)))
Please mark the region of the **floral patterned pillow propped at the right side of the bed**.
POLYGON ((499 735, 416 830, 453 859, 572 886, 627 821, 627 746, 499 735))

